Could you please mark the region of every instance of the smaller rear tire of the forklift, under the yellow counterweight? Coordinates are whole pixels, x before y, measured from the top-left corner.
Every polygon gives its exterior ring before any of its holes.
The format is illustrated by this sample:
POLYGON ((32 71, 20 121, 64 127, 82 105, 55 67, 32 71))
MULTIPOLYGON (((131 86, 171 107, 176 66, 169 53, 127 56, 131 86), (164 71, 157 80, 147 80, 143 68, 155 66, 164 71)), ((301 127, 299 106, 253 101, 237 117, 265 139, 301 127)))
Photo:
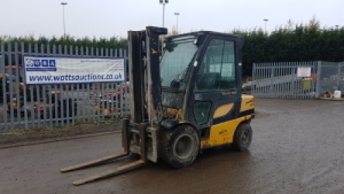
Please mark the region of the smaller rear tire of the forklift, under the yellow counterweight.
POLYGON ((237 151, 246 151, 251 141, 252 129, 248 123, 244 123, 235 131, 232 147, 237 151))

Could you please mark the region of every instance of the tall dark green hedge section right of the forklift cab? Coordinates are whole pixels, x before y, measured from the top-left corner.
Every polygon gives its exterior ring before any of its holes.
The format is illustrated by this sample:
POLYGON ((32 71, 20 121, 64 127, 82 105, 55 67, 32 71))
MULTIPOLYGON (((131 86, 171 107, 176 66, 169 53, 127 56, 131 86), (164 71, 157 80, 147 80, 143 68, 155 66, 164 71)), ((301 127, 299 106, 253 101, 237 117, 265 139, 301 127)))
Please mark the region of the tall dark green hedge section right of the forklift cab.
POLYGON ((262 30, 237 34, 245 37, 245 76, 251 74, 253 63, 344 61, 344 28, 297 25, 294 29, 279 28, 270 34, 262 30))

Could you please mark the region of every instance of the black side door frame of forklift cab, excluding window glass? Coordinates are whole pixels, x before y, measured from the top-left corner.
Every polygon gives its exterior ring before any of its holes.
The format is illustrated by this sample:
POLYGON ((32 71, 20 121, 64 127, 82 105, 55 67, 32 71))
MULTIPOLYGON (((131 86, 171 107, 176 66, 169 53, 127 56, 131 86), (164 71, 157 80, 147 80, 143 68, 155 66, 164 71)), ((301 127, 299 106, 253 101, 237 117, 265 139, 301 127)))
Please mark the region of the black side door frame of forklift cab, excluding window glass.
MULTIPOLYGON (((202 138, 206 138, 209 134, 210 127, 221 122, 226 122, 231 119, 239 117, 239 109, 241 103, 241 50, 243 45, 243 39, 241 36, 230 35, 230 34, 215 34, 211 32, 204 39, 204 44, 200 47, 200 51, 195 57, 195 62, 193 65, 193 71, 191 72, 191 77, 189 80, 189 96, 186 101, 186 111, 184 111, 184 118, 189 120, 197 129, 199 129, 202 138), (236 80, 236 91, 226 91, 224 90, 214 90, 214 91, 195 91, 195 85, 197 83, 197 75, 200 71, 202 60, 206 54, 212 40, 222 40, 222 41, 233 41, 234 52, 235 52, 235 80, 236 80), (201 109, 204 110, 203 113, 195 113, 195 105, 200 103, 201 109), (203 104, 203 105, 202 105, 203 104), (230 111, 219 116, 218 118, 213 118, 215 111, 224 105, 233 104, 233 108, 230 111), (203 106, 203 107, 202 107, 203 106), (208 106, 208 107, 206 107, 208 106), (209 107, 210 106, 210 107, 209 107), (200 122, 197 120, 195 114, 207 114, 208 119, 205 122, 200 122)), ((223 57, 223 56, 222 56, 223 57)))

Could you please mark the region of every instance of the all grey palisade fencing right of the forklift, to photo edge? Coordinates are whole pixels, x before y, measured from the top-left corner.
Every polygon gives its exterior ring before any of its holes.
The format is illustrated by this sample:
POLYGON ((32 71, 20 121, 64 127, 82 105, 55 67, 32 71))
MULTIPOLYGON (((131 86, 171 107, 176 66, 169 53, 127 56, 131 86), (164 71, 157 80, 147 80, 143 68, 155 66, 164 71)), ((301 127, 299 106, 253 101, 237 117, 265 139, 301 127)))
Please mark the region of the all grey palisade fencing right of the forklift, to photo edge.
POLYGON ((263 98, 319 98, 330 91, 344 94, 343 62, 255 63, 251 92, 263 98), (310 67, 310 77, 298 77, 298 67, 310 67))

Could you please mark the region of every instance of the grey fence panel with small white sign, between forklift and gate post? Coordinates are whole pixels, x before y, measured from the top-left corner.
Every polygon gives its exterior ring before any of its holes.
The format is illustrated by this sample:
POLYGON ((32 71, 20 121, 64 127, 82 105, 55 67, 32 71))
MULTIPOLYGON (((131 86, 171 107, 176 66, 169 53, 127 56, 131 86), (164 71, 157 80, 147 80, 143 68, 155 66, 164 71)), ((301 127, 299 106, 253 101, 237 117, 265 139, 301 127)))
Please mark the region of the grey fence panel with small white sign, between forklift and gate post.
POLYGON ((252 95, 263 98, 315 98, 319 62, 255 63, 252 95), (310 77, 297 76, 298 67, 310 67, 310 77))

